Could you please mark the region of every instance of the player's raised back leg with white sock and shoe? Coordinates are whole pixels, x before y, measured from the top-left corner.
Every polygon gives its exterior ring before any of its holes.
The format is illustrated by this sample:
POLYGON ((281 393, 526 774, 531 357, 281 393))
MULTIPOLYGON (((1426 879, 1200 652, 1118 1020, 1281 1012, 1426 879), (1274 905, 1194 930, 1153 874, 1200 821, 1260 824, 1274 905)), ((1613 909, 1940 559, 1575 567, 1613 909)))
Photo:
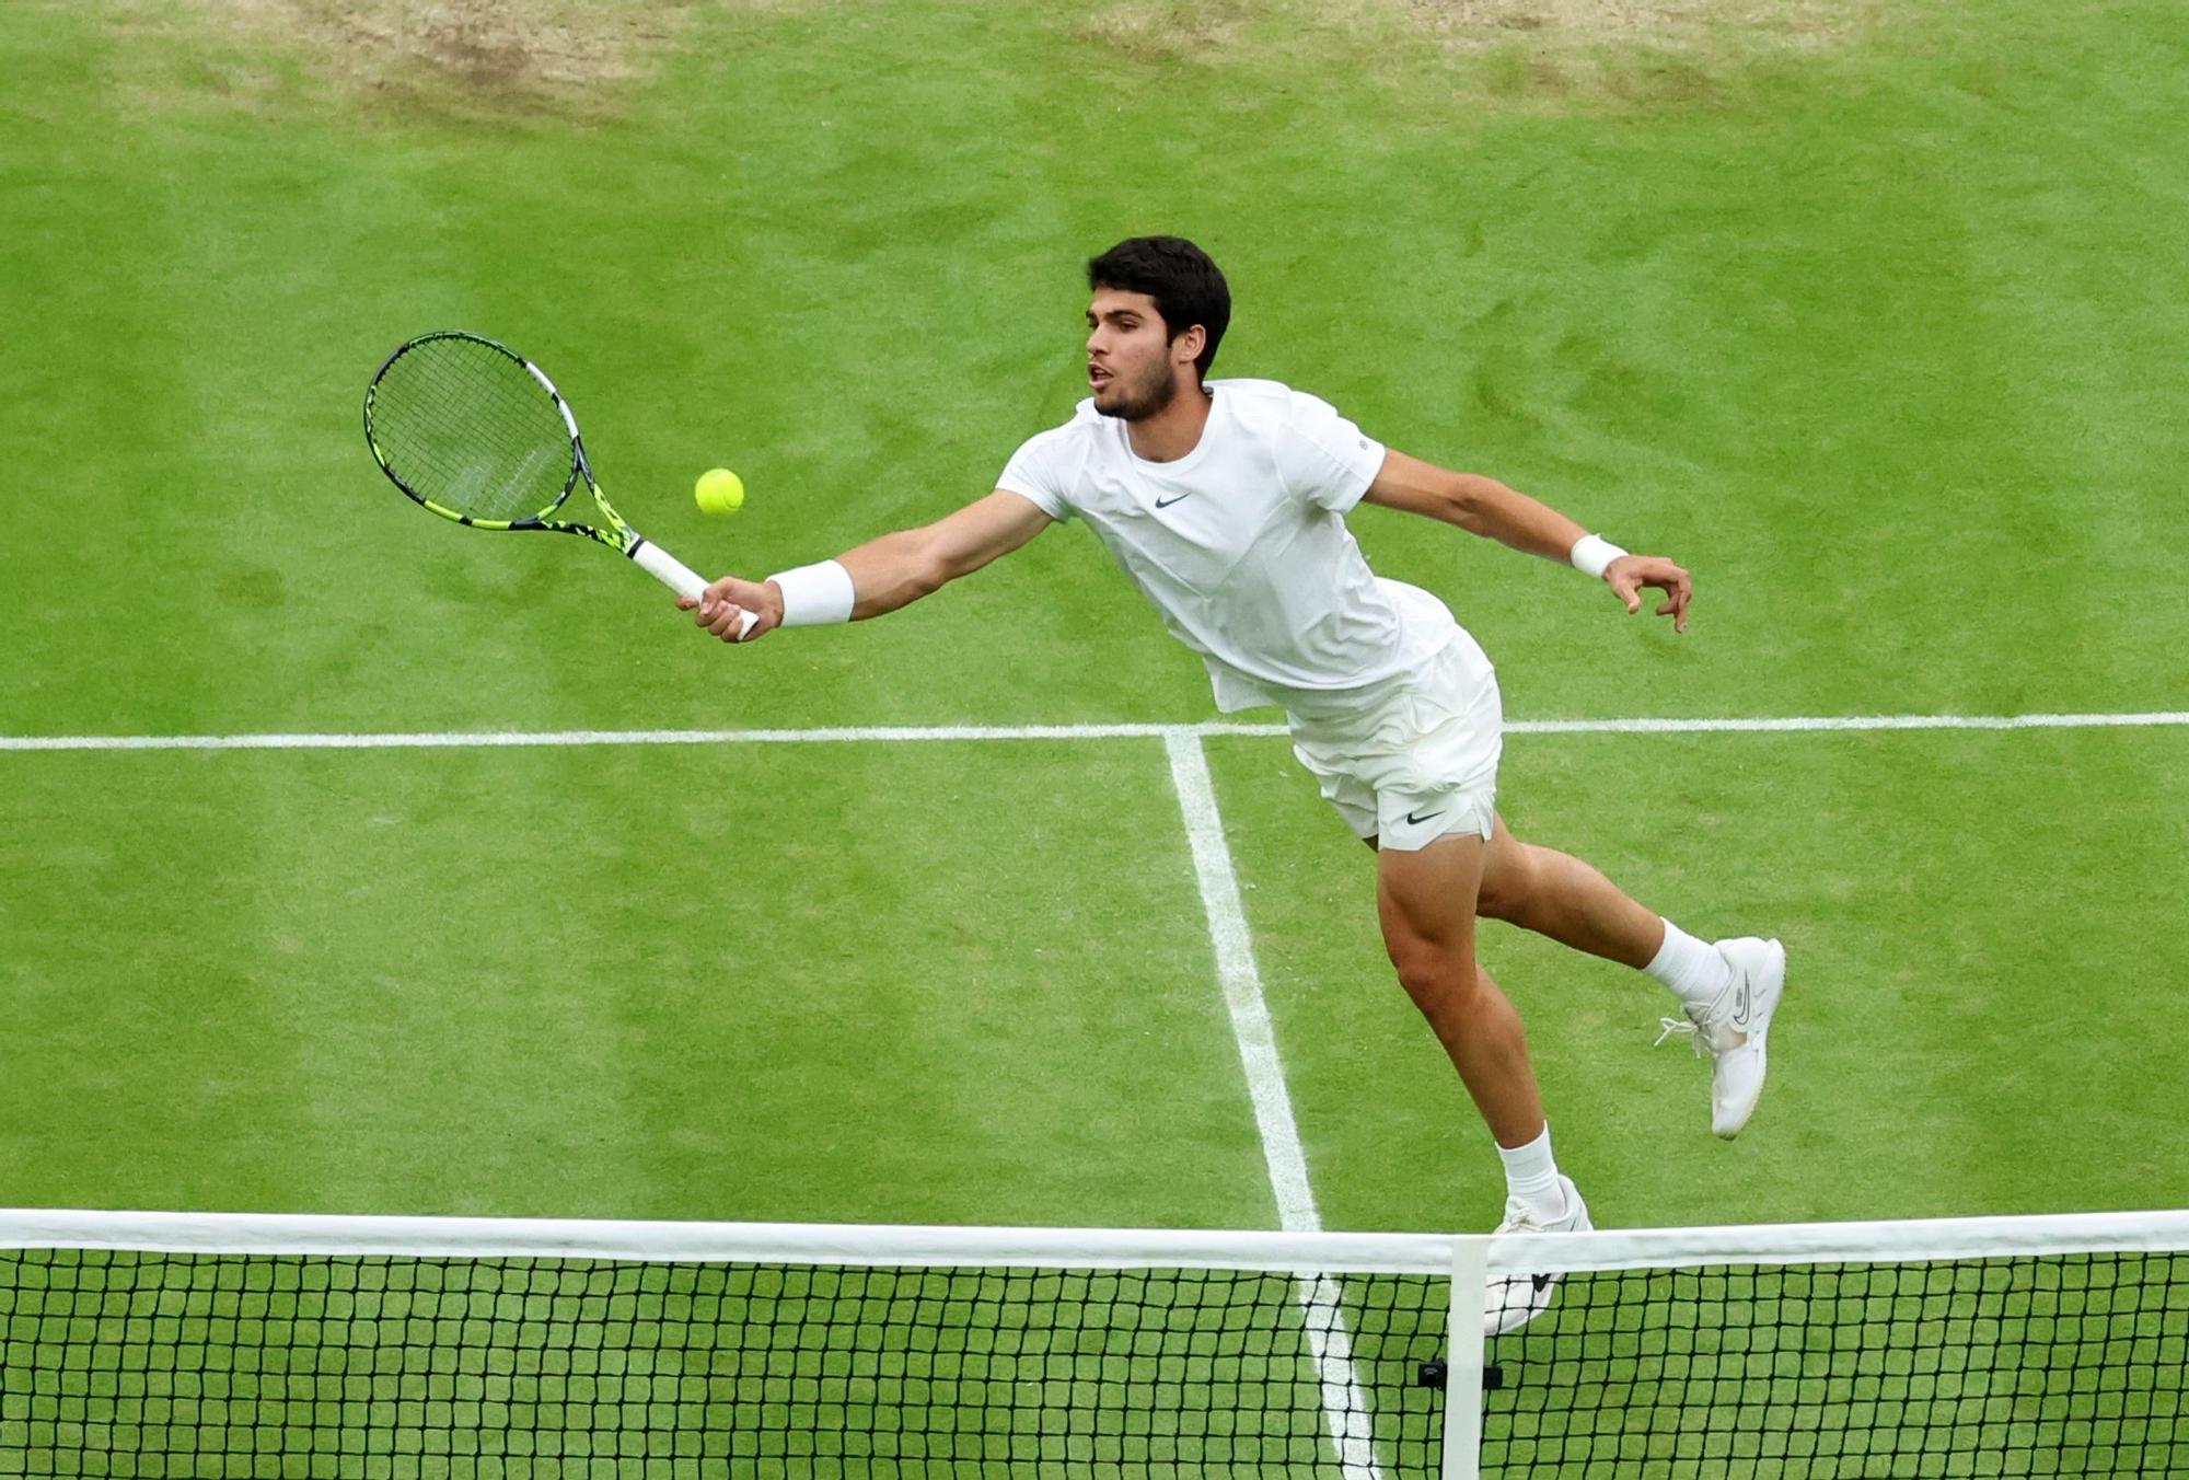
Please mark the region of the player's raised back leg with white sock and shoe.
POLYGON ((1758 937, 1699 941, 1589 863, 1521 843, 1502 817, 1484 849, 1475 909, 1664 983, 1694 1025, 1696 1051, 1712 1060, 1710 1128, 1740 1134, 1764 1088, 1771 1016, 1786 985, 1784 946, 1758 937))

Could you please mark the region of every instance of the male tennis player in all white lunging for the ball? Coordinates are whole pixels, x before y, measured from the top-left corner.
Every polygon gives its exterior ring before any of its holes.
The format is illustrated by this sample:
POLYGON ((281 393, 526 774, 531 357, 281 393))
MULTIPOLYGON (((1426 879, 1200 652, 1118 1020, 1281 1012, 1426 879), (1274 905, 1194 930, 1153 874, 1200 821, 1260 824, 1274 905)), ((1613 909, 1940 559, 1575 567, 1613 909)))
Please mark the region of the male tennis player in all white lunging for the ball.
MULTIPOLYGON (((1191 241, 1134 236, 1088 263, 1088 388, 1073 418, 1024 442, 992 495, 919 530, 771 576, 725 576, 681 609, 722 639, 880 617, 1079 517, 1171 635, 1202 655, 1219 709, 1278 705, 1294 755, 1377 849, 1377 913, 1399 983, 1436 1029, 1506 1169, 1506 1230, 1587 1228, 1519 1016, 1475 961, 1475 917, 1508 920, 1670 987, 1710 1051, 1712 1130, 1734 1136, 1764 1084, 1786 979, 1777 941, 1705 944, 1567 854, 1497 817, 1502 709, 1482 648, 1427 591, 1381 580, 1346 530, 1355 504, 1458 525, 1570 560, 1640 611, 1688 626, 1688 571, 1626 554, 1475 473, 1390 451, 1331 405, 1276 381, 1208 381, 1230 289, 1191 241)), ((1491 1292, 1491 1333, 1550 1303, 1550 1279, 1491 1292)))

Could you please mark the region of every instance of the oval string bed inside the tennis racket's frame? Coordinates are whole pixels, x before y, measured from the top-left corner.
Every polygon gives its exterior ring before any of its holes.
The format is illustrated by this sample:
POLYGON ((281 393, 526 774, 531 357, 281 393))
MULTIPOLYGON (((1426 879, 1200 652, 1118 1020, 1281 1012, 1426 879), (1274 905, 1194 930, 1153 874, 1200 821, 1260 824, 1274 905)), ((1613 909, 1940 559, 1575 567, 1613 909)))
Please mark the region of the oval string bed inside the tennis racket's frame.
POLYGON ((523 361, 477 339, 425 339, 372 392, 372 442, 409 493, 466 519, 554 510, 576 455, 554 396, 523 361))

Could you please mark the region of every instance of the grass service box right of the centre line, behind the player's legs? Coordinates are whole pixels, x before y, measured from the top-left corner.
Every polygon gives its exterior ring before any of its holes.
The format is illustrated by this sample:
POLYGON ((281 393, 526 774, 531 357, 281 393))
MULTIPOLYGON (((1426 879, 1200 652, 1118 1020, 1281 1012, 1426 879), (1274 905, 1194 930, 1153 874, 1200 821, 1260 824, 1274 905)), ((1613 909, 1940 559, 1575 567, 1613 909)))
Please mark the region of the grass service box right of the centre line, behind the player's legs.
MULTIPOLYGON (((1311 1044, 1287 1077, 1324 1217, 1493 1222, 1493 1169, 1469 1176, 1486 1136, 1386 979, 1359 845, 1307 806, 1313 782, 1278 744, 1211 751, 1278 1042, 1311 1044)), ((2189 979, 2171 928, 2185 764, 2180 731, 1508 740, 1515 830, 1696 930, 1771 922, 1791 959, 1769 1097, 1753 1134, 1721 1145, 1705 1066, 1651 1047, 1670 998, 1484 926, 1598 1219, 2189 1206, 2161 1130, 2180 1084, 2121 1073, 2123 1040, 2136 1062, 2189 1057, 2163 1005, 2189 979), (2049 801, 2060 777, 2082 779, 2077 803, 2049 801)))

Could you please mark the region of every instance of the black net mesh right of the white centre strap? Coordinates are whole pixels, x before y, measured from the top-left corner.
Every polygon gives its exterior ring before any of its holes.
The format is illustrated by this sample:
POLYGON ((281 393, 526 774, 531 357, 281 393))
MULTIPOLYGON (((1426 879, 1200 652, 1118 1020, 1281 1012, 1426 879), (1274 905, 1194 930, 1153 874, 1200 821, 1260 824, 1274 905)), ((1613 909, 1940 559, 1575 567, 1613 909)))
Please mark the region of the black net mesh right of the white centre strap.
POLYGON ((1489 1344, 1486 1476, 2189 1476, 2189 1261, 1570 1274, 1489 1344))

